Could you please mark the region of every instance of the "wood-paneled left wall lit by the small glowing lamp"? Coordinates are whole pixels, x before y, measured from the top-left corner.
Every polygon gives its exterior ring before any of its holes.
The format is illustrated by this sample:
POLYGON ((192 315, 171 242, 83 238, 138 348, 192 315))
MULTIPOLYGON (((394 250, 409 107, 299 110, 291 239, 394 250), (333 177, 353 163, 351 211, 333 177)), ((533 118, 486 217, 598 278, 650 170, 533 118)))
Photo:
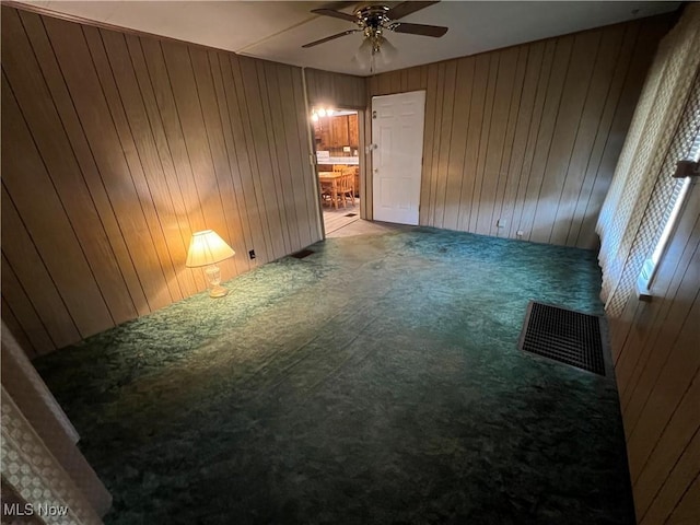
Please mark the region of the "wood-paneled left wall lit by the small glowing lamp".
POLYGON ((31 353, 320 238, 302 70, 2 8, 2 318, 31 353), (255 249, 257 259, 248 259, 255 249))

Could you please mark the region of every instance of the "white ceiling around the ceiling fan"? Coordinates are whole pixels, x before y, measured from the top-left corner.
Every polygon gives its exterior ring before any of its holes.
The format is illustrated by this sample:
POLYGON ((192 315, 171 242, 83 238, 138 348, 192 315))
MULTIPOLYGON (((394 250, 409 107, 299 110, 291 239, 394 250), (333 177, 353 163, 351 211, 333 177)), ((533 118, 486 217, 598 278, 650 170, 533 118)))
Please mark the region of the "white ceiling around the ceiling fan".
MULTIPOLYGON (((324 2, 296 1, 56 1, 20 0, 44 10, 119 27, 228 49, 241 55, 351 74, 369 74, 352 61, 360 34, 302 49, 302 44, 345 30, 350 22, 310 11, 324 2)), ((366 3, 366 2, 365 2, 366 3)), ((371 2, 388 5, 398 2, 371 2)), ((442 38, 390 33, 398 57, 380 71, 463 57, 490 49, 674 11, 680 2, 450 1, 404 22, 444 25, 442 38)), ((351 12, 352 8, 346 9, 351 12)))

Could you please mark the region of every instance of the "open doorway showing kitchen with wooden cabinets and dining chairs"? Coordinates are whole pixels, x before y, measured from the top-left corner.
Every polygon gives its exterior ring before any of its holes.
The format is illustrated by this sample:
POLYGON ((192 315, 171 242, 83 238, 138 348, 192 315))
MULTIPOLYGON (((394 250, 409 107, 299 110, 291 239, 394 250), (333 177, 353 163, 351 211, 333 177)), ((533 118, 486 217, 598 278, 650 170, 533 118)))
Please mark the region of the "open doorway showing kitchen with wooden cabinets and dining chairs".
POLYGON ((360 219, 359 112, 314 107, 312 126, 326 235, 360 219))

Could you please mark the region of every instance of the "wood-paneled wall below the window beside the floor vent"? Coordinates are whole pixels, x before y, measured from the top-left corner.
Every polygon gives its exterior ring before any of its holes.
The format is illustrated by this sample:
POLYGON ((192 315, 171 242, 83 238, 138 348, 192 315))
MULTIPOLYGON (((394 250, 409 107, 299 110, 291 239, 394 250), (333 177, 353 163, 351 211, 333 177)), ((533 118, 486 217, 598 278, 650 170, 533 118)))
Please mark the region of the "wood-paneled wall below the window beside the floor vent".
POLYGON ((615 369, 642 525, 700 523, 700 185, 652 284, 611 319, 615 369))

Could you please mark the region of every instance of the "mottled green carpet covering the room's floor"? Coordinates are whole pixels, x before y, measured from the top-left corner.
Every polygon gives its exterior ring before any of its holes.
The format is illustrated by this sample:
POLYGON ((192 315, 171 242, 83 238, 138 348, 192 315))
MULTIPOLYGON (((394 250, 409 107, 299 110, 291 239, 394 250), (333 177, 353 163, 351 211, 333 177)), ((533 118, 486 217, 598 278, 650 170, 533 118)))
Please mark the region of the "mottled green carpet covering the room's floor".
POLYGON ((328 240, 35 361, 106 524, 633 524, 615 383, 516 349, 602 314, 593 252, 328 240))

